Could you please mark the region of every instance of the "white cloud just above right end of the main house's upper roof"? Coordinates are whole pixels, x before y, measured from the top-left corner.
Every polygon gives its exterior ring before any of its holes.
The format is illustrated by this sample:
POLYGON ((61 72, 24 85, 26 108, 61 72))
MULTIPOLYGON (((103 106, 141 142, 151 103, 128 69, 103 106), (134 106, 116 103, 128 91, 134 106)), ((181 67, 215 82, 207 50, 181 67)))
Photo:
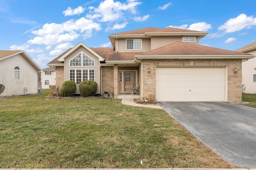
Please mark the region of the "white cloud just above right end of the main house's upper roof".
POLYGON ((180 29, 190 29, 194 31, 208 31, 208 29, 212 29, 212 25, 205 22, 192 23, 191 25, 189 25, 189 27, 187 24, 180 25, 180 26, 170 25, 169 27, 180 28, 180 29))

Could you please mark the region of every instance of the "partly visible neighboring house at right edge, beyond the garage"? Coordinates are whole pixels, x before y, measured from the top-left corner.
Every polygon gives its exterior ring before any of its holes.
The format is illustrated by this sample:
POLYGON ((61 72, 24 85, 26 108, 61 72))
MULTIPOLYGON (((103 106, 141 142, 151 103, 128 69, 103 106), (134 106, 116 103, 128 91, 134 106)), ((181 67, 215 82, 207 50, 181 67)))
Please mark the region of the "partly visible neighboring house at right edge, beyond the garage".
MULTIPOLYGON (((236 51, 256 55, 256 42, 236 51)), ((244 93, 256 93, 256 58, 242 61, 242 84, 244 93)))

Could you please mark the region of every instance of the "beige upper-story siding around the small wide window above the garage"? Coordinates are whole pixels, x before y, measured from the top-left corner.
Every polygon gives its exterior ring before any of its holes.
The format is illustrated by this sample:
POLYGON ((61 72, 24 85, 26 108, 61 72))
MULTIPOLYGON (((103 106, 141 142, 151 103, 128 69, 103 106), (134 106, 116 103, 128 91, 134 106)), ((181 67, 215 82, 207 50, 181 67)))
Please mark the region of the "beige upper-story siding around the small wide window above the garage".
MULTIPOLYGON (((182 41, 182 37, 152 37, 151 40, 151 50, 157 49, 164 45, 174 43, 176 41, 182 41)), ((193 44, 199 44, 198 37, 196 37, 196 42, 187 42, 193 44)))

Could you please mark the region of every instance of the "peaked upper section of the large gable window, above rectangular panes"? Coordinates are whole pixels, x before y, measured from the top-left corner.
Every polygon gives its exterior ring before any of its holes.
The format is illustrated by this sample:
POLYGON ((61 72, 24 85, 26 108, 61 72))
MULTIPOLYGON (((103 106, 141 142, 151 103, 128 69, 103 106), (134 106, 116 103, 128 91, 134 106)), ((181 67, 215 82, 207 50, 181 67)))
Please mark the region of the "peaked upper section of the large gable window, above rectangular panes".
POLYGON ((81 52, 69 61, 69 66, 95 66, 95 61, 81 52))

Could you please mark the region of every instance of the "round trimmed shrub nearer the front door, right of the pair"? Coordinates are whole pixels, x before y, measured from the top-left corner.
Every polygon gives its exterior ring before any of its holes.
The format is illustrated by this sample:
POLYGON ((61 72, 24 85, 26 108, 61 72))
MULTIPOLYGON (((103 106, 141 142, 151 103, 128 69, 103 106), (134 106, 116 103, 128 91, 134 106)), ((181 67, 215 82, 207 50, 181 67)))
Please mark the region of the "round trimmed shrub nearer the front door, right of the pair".
POLYGON ((85 80, 79 84, 79 92, 82 97, 95 96, 98 84, 94 81, 85 80))

